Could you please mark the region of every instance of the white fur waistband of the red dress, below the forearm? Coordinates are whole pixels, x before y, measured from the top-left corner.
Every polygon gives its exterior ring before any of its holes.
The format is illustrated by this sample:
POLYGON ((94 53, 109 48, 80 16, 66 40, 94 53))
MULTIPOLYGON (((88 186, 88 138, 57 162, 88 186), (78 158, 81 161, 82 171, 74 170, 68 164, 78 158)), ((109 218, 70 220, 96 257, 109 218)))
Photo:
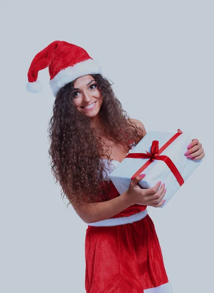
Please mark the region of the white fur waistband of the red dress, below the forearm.
POLYGON ((148 210, 145 209, 143 211, 137 212, 134 215, 128 216, 128 217, 119 217, 119 218, 111 218, 106 219, 94 223, 87 223, 89 226, 95 226, 95 227, 103 227, 103 226, 117 226, 117 225, 124 225, 133 223, 136 221, 139 221, 143 219, 148 213, 148 210))

